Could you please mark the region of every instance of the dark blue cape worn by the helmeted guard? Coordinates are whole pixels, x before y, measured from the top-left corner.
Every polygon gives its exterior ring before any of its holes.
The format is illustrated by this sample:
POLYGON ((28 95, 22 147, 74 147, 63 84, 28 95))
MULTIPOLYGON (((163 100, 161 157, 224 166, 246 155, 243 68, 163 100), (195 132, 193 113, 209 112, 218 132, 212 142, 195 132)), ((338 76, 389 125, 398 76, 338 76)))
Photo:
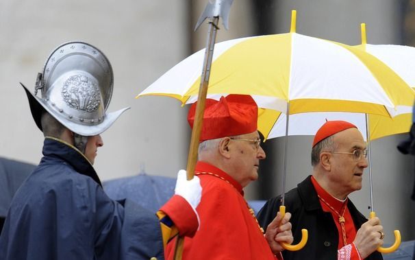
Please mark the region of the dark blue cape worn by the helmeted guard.
POLYGON ((13 198, 0 259, 164 259, 154 213, 108 198, 95 169, 70 145, 47 138, 43 154, 13 198))

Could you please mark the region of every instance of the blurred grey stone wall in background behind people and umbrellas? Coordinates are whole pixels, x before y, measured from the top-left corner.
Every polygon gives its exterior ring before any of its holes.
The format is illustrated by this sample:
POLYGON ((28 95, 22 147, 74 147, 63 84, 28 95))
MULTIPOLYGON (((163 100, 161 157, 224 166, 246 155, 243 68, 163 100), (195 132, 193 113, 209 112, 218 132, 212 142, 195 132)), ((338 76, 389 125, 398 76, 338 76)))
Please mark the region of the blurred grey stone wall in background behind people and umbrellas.
MULTIPOLYGON (((190 128, 187 108, 168 97, 134 97, 164 72, 205 46, 207 25, 193 32, 207 0, 2 0, 0 1, 0 156, 37 164, 42 133, 32 119, 22 82, 34 89, 38 72, 55 47, 84 40, 108 56, 114 69, 109 111, 131 106, 103 133, 95 168, 102 180, 149 175, 175 177, 186 168, 190 128)), ((289 32, 291 10, 297 10, 297 32, 360 44, 366 23, 371 44, 415 45, 413 0, 235 0, 231 38, 289 32)), ((183 75, 186 77, 186 75, 183 75)), ((374 206, 386 230, 386 242, 399 229, 403 240, 415 239, 414 202, 410 200, 414 159, 396 148, 407 134, 373 141, 374 206)), ((312 171, 312 137, 288 138, 287 190, 312 171)), ((267 159, 260 180, 247 187, 248 200, 264 200, 281 192, 284 139, 264 143, 267 159)), ((368 176, 352 200, 368 215, 368 176)), ((289 209, 288 209, 289 211, 289 209)))

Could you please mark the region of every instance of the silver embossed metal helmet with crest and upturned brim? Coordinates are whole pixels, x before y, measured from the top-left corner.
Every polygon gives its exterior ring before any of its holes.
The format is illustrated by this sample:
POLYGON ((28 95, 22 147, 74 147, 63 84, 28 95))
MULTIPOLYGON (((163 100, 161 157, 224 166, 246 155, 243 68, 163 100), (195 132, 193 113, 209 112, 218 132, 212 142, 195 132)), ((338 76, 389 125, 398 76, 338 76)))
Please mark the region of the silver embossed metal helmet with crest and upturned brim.
POLYGON ((70 42, 56 48, 38 74, 35 92, 25 86, 30 110, 40 130, 44 110, 82 136, 101 134, 128 108, 107 110, 114 84, 107 57, 88 43, 70 42), (40 90, 42 97, 38 97, 40 90))

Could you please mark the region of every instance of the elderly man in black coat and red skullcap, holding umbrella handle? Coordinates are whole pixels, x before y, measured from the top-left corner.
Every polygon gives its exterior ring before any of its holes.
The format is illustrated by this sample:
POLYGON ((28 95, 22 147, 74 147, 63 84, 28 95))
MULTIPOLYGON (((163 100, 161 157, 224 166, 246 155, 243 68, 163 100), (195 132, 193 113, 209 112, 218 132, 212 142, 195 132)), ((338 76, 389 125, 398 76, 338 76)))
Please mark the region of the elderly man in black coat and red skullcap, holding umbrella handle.
MULTIPOLYGON (((327 121, 314 137, 311 157, 312 176, 285 197, 294 237, 307 228, 308 242, 302 250, 284 251, 284 259, 382 259, 376 251, 383 244, 380 220, 366 220, 348 198, 362 188, 368 167, 360 131, 347 121, 327 121)), ((271 222, 280 204, 280 197, 268 200, 257 215, 260 224, 271 222)))

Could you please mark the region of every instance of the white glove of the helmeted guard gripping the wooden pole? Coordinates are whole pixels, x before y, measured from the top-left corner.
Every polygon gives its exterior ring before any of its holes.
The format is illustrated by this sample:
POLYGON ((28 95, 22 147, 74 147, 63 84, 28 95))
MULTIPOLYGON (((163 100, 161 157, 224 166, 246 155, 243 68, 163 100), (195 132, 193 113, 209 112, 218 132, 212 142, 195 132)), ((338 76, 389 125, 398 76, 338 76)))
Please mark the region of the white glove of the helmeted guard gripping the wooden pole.
POLYGON ((179 173, 177 173, 175 194, 183 197, 193 209, 196 209, 202 196, 199 177, 194 176, 192 180, 187 180, 186 171, 184 169, 179 170, 179 173))

